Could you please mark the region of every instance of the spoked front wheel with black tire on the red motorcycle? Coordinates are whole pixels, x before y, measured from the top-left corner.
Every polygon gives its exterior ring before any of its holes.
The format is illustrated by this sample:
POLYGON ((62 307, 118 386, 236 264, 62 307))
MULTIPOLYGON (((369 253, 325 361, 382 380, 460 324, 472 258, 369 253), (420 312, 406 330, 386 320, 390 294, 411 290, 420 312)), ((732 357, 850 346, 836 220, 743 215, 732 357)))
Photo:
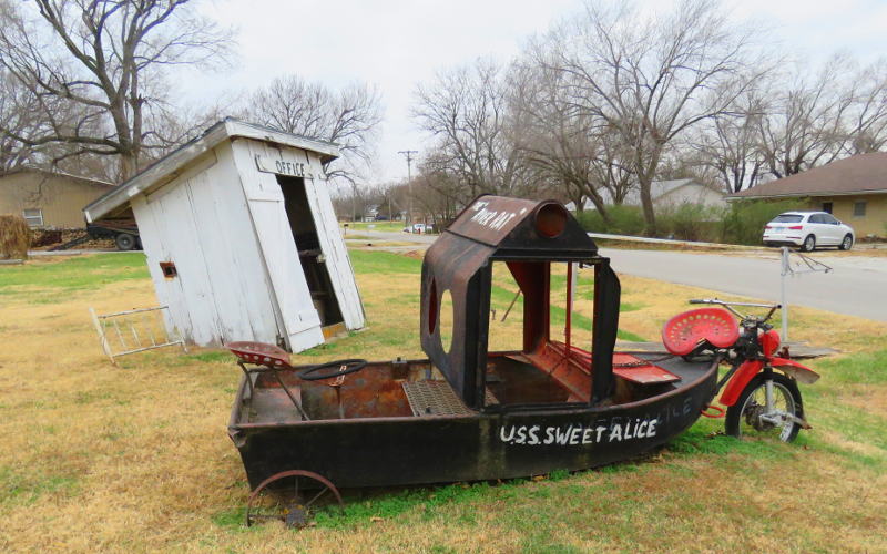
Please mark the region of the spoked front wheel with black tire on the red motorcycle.
POLYGON ((767 379, 764 373, 758 373, 742 391, 736 403, 727 408, 727 434, 737 438, 772 437, 783 442, 795 440, 801 425, 785 416, 804 419, 801 391, 793 379, 782 373, 772 373, 772 379, 773 411, 767 413, 767 379))

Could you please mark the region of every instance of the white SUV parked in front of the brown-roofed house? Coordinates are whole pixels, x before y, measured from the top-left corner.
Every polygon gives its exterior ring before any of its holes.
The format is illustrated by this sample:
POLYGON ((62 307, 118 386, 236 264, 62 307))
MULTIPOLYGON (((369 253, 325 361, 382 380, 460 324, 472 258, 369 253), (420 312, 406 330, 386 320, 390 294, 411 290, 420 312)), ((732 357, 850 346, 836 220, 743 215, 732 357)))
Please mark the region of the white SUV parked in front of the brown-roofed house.
POLYGON ((803 252, 837 246, 849 250, 854 242, 853 227, 827 212, 785 212, 764 227, 765 246, 798 246, 803 252))

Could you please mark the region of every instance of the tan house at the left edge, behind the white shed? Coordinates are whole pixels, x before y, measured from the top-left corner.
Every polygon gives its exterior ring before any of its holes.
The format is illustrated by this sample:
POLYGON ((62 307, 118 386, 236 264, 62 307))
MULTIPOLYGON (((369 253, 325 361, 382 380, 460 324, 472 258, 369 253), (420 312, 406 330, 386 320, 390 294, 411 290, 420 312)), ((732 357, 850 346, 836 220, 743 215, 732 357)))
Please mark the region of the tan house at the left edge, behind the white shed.
POLYGON ((21 215, 32 228, 84 228, 81 208, 113 187, 68 173, 21 167, 0 174, 0 214, 21 215))

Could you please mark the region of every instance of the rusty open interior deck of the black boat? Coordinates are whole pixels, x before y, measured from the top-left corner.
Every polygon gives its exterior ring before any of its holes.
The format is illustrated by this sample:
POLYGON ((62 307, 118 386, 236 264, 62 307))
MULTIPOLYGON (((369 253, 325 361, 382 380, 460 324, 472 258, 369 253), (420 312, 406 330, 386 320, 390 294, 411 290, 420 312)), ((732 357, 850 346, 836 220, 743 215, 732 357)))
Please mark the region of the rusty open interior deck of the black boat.
MULTIPOLYGON (((620 404, 690 386, 706 372, 711 361, 687 362, 663 352, 618 352, 614 365, 616 390, 612 402, 620 404), (635 361, 620 363, 620 360, 635 361), (638 360, 650 363, 639 365, 638 360)), ((290 393, 302 402, 310 420, 478 413, 465 406, 428 360, 370 362, 364 370, 345 377, 339 387, 330 386, 335 379, 303 381, 294 370, 281 370, 279 376, 290 393)), ((590 383, 584 372, 569 377, 573 384, 564 383, 567 378, 540 370, 520 352, 491 356, 486 378, 486 406, 574 402, 577 399, 571 387, 577 382, 590 383)), ((238 423, 303 421, 286 391, 271 373, 253 373, 251 379, 252 387, 245 381, 242 384, 238 423)))

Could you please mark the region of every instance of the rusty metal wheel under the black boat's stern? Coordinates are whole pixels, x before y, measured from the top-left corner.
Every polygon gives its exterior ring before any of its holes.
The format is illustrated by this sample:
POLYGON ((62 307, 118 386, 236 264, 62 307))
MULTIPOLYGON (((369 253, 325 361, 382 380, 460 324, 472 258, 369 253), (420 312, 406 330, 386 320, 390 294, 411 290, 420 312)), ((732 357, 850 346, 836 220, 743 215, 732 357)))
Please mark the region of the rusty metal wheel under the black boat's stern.
POLYGON ((282 471, 263 481, 249 494, 246 503, 246 526, 261 521, 277 520, 287 527, 302 529, 308 525, 318 506, 333 503, 341 507, 341 494, 323 475, 304 470, 282 471), (272 484, 288 479, 292 479, 292 485, 269 489, 272 484), (328 492, 332 492, 332 497, 328 492))

